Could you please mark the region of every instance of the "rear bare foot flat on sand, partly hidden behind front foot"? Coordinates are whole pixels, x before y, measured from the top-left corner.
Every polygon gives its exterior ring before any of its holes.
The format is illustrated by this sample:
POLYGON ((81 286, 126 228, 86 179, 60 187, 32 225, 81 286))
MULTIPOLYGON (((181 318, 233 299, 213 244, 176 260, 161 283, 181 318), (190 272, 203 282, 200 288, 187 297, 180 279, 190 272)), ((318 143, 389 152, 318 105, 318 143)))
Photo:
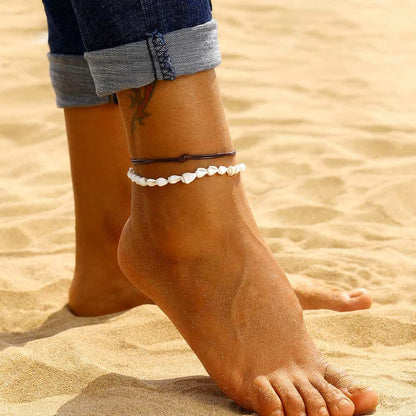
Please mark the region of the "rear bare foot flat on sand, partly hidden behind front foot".
MULTIPOLYGON (((101 244, 101 251, 105 245, 105 242, 101 244)), ((112 250, 116 250, 116 245, 117 241, 107 242, 108 247, 113 246, 112 250)), ((298 275, 290 276, 289 280, 304 310, 347 312, 371 306, 371 296, 365 289, 345 291, 317 279, 298 275)), ((89 264, 79 265, 74 273, 69 306, 75 315, 106 315, 152 303, 125 277, 114 255, 94 262, 90 258, 89 264)))

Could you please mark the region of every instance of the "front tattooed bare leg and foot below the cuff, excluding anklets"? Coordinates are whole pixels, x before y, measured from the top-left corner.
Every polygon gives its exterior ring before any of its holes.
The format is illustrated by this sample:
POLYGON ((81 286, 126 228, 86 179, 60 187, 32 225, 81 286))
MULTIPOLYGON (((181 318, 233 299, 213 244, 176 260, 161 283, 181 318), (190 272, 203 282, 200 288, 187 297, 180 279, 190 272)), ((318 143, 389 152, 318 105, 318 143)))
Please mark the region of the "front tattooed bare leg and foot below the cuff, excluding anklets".
MULTIPOLYGON (((132 157, 232 148, 214 71, 118 96, 132 157)), ((212 164, 205 162, 137 171, 166 177, 212 164)), ((308 336, 299 301, 260 235, 240 175, 163 188, 133 185, 119 262, 237 403, 261 416, 351 416, 376 407, 377 393, 356 389, 308 336)))

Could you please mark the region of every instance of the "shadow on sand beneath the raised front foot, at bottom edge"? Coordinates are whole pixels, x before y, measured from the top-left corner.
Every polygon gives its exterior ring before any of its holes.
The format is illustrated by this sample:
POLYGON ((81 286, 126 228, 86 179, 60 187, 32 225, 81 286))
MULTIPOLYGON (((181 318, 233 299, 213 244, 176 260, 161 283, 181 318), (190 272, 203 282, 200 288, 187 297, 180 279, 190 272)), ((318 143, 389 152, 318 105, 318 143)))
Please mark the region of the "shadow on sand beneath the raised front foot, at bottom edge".
POLYGON ((96 378, 56 416, 255 415, 226 397, 206 376, 141 380, 110 373, 96 378))

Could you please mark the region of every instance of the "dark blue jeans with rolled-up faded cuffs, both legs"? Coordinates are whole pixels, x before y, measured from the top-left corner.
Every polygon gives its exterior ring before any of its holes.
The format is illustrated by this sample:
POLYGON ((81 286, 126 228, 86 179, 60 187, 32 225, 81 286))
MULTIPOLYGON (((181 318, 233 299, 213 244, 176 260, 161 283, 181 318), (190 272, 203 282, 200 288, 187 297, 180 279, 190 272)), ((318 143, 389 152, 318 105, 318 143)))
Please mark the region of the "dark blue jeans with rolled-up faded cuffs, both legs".
POLYGON ((43 0, 49 70, 60 108, 221 63, 210 0, 43 0))

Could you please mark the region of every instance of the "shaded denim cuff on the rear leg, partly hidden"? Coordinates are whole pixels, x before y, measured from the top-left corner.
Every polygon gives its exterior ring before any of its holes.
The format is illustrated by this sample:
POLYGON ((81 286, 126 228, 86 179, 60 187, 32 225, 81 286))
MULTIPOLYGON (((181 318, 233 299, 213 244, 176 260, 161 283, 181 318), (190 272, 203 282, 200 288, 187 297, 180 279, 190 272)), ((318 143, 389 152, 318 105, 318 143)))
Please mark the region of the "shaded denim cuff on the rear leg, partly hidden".
POLYGON ((88 63, 82 55, 48 53, 49 73, 59 108, 107 104, 111 96, 98 97, 88 63))

